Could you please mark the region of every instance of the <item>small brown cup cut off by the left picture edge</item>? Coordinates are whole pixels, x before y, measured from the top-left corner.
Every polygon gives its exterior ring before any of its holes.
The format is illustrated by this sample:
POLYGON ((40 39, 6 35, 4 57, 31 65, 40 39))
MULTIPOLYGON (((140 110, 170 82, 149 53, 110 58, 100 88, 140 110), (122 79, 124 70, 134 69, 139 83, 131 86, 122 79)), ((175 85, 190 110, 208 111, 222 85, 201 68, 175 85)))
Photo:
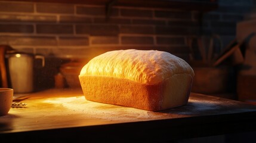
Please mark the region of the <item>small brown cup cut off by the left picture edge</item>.
POLYGON ((0 116, 7 115, 13 102, 13 89, 0 88, 0 116))

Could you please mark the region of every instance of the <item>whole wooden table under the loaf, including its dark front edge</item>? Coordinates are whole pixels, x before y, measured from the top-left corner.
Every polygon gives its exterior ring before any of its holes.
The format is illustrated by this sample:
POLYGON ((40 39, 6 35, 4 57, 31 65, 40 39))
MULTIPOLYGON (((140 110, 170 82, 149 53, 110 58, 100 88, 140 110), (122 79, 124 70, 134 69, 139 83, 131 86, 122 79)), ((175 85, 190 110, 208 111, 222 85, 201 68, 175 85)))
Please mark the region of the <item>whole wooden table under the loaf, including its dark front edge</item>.
POLYGON ((26 97, 26 107, 0 117, 0 139, 161 142, 256 129, 255 105, 194 93, 186 106, 161 112, 87 101, 75 89, 26 97))

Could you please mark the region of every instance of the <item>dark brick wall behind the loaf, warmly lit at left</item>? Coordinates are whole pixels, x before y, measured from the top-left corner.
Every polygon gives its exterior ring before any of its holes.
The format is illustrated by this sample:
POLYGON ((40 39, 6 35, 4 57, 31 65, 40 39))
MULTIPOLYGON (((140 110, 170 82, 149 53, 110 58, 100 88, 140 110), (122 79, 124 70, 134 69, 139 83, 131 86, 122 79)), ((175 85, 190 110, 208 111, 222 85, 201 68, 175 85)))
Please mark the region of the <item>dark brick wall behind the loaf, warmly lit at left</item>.
MULTIPOLYGON (((187 38, 214 33, 227 45, 235 38, 236 23, 254 3, 218 2, 218 10, 205 13, 200 27, 196 11, 113 7, 106 21, 104 6, 0 1, 0 45, 48 58, 92 58, 113 49, 159 49, 189 61, 187 38)), ((58 66, 51 61, 46 64, 58 66)))

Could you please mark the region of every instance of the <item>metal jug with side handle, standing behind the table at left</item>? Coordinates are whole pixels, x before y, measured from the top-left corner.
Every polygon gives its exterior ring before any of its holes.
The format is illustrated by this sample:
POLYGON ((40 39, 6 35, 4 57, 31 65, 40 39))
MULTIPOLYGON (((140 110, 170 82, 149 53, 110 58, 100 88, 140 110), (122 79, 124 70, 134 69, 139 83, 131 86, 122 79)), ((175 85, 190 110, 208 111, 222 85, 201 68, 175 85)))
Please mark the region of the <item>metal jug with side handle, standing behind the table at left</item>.
POLYGON ((11 79, 11 87, 15 93, 33 92, 33 61, 42 60, 44 67, 44 57, 26 53, 6 54, 8 71, 11 79))

